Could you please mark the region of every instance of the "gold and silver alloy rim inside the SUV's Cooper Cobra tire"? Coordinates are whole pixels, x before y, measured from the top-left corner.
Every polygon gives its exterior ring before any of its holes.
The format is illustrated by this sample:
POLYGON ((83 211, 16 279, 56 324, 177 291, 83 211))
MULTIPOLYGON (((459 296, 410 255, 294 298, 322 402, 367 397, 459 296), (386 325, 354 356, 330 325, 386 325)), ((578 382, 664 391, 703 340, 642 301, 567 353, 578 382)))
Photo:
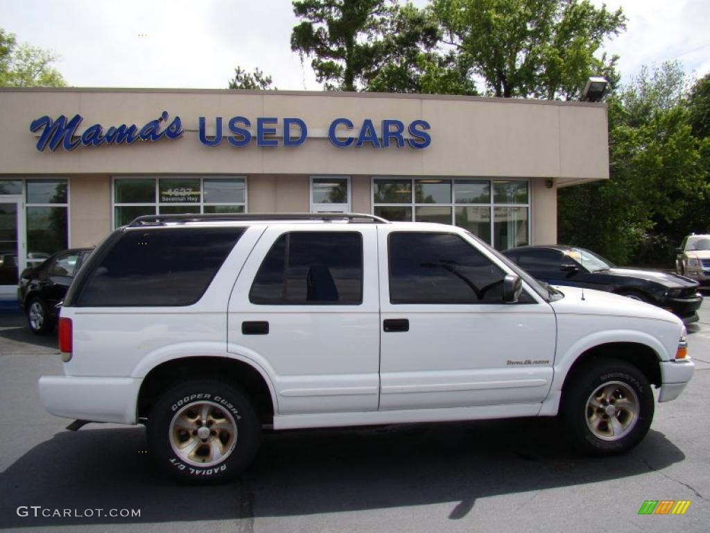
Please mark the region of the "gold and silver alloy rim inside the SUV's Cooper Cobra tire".
POLYGON ((170 446, 193 466, 222 463, 234 451, 237 430, 234 416, 214 402, 200 401, 182 407, 170 421, 170 446))

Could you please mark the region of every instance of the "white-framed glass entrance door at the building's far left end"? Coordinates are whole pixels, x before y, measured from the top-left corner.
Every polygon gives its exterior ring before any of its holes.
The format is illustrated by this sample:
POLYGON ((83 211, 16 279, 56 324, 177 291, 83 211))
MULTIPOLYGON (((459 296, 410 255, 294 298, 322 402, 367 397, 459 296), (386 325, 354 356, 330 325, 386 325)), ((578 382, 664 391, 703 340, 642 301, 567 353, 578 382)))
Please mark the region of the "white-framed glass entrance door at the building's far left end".
POLYGON ((21 259, 21 200, 0 199, 0 292, 17 288, 21 259))

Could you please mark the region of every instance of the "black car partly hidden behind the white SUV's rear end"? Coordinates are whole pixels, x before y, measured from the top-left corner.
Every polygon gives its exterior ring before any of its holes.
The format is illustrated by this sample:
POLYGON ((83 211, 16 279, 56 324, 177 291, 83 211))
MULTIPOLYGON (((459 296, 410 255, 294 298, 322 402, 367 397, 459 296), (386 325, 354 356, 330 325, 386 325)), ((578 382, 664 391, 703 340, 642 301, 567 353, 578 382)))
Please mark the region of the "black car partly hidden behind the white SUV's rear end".
POLYGON ((38 266, 24 269, 17 287, 17 301, 33 333, 50 333, 58 318, 57 304, 64 299, 74 275, 91 254, 91 248, 57 252, 38 266))

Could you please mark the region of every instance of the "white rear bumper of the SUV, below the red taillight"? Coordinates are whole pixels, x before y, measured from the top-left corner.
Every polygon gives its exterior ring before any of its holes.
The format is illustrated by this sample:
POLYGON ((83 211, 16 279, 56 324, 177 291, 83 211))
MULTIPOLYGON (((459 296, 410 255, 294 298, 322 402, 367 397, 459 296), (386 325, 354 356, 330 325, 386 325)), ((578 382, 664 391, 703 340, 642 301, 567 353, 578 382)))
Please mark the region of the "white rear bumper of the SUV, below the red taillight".
POLYGON ((131 377, 43 376, 39 389, 45 409, 55 416, 136 424, 142 381, 131 377))

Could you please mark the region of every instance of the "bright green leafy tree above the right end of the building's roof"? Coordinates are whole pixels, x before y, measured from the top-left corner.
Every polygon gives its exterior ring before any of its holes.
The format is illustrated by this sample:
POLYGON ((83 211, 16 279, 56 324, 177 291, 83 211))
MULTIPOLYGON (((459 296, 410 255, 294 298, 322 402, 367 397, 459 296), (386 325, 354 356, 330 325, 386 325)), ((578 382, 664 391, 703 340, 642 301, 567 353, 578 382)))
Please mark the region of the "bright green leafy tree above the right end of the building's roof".
POLYGON ((433 0, 447 39, 496 97, 579 99, 590 75, 618 81, 616 57, 598 53, 625 26, 589 0, 433 0))

